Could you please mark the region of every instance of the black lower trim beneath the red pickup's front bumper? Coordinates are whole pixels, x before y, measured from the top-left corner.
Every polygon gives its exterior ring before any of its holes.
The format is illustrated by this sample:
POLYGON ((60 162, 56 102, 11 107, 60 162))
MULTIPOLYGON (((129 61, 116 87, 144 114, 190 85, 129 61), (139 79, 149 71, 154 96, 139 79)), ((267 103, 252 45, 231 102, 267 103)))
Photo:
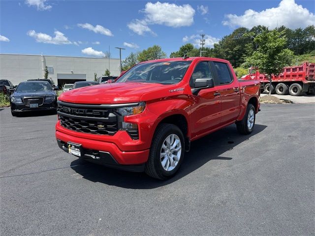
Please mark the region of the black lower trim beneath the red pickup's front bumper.
MULTIPOLYGON (((68 153, 68 148, 66 147, 66 143, 57 139, 57 143, 59 148, 63 149, 65 152, 68 153)), ((92 149, 86 149, 81 147, 81 157, 86 161, 103 165, 106 167, 119 169, 119 170, 125 170, 125 171, 131 171, 131 172, 144 172, 144 166, 145 164, 141 165, 121 165, 119 164, 115 158, 106 151, 98 151, 98 150, 92 150, 92 149)))

